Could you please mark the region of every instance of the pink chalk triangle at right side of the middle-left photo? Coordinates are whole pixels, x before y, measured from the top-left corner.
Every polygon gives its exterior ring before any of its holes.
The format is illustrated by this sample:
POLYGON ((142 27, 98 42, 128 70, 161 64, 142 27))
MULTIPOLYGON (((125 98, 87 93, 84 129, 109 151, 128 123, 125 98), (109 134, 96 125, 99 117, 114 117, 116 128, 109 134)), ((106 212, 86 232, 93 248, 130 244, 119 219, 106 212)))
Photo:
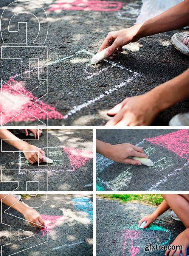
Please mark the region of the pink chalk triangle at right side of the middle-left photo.
POLYGON ((80 149, 74 149, 70 147, 63 147, 64 151, 68 155, 68 158, 70 160, 70 165, 73 169, 73 171, 85 163, 87 163, 91 158, 93 158, 93 152, 92 151, 85 151, 80 149))

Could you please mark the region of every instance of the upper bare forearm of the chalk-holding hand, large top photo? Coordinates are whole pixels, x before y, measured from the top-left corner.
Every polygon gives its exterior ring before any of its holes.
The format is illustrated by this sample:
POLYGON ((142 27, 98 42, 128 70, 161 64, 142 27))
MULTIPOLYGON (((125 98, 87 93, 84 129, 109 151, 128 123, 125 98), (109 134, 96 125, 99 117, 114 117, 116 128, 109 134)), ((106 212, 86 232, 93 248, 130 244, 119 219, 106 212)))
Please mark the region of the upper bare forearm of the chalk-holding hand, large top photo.
POLYGON ((137 24, 138 32, 136 38, 150 36, 189 25, 189 0, 169 8, 160 15, 137 24))

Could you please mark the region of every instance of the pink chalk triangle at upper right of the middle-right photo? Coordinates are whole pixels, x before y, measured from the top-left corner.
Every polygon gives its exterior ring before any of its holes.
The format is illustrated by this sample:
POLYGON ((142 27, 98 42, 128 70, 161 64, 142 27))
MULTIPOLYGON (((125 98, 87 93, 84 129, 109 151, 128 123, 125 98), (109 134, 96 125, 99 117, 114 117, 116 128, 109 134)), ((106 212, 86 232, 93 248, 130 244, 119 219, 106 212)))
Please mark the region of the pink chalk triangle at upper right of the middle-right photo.
POLYGON ((162 146, 189 161, 189 130, 182 129, 145 140, 162 146))

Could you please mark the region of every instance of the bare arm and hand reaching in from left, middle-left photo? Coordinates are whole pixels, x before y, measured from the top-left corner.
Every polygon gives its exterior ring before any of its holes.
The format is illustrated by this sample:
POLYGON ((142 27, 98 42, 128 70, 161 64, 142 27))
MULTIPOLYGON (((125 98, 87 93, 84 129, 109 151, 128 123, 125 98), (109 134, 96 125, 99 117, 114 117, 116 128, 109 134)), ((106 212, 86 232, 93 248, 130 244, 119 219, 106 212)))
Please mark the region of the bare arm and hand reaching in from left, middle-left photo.
POLYGON ((0 139, 5 140, 6 143, 22 151, 26 159, 31 164, 38 162, 38 154, 39 154, 39 163, 42 163, 45 161, 43 158, 43 155, 45 155, 45 152, 42 149, 40 149, 39 147, 30 145, 26 141, 20 140, 7 129, 0 129, 0 139))

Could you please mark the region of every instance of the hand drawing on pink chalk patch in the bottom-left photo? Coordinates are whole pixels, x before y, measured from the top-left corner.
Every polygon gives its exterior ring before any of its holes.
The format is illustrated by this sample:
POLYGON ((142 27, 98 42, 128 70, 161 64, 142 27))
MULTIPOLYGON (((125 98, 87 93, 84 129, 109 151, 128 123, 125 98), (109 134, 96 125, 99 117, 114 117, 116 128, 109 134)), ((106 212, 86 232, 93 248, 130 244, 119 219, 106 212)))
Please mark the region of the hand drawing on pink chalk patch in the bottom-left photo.
POLYGON ((33 225, 34 227, 38 227, 38 228, 45 227, 45 222, 40 216, 40 214, 35 209, 29 207, 28 205, 26 205, 26 208, 23 211, 23 216, 25 217, 26 220, 29 221, 29 224, 33 225), (39 223, 39 221, 41 224, 39 223))

